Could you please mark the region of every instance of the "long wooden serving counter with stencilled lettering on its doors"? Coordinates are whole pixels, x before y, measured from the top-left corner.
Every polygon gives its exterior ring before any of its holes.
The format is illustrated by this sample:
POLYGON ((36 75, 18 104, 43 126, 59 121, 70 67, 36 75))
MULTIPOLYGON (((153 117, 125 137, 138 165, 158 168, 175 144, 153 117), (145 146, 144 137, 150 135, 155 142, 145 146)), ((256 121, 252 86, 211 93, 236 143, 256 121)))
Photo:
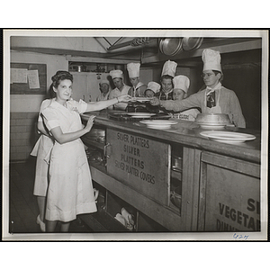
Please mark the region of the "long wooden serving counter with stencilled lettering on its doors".
MULTIPOLYGON (((202 137, 203 130, 191 121, 177 120, 170 129, 156 130, 136 119, 116 121, 107 111, 96 114, 94 129, 104 130, 105 137, 94 138, 90 131, 82 138, 100 157, 94 160, 89 154, 93 181, 102 194, 98 212, 82 216, 90 227, 260 230, 258 130, 226 128, 256 136, 231 144, 202 137), (119 219, 122 209, 130 213, 131 227, 129 220, 119 219)), ((82 119, 87 120, 87 113, 82 119)))

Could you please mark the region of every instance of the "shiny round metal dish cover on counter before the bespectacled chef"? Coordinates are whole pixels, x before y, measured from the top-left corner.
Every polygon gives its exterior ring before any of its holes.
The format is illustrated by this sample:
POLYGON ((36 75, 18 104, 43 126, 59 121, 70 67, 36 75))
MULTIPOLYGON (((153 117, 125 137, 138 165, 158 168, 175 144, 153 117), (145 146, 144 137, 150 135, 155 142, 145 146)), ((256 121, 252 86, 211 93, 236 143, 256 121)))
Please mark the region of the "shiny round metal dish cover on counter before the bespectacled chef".
POLYGON ((226 113, 199 113, 194 121, 199 124, 202 129, 223 129, 227 125, 231 125, 229 115, 226 113))

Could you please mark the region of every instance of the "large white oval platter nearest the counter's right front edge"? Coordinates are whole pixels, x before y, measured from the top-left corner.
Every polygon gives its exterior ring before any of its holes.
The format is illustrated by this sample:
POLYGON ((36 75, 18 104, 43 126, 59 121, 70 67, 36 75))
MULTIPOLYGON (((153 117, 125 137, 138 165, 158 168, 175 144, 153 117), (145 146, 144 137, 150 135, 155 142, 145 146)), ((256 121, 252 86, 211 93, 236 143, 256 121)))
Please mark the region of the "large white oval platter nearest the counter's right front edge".
POLYGON ((256 139, 256 136, 247 133, 229 132, 229 131, 202 131, 203 137, 214 139, 220 142, 244 142, 246 140, 256 139))

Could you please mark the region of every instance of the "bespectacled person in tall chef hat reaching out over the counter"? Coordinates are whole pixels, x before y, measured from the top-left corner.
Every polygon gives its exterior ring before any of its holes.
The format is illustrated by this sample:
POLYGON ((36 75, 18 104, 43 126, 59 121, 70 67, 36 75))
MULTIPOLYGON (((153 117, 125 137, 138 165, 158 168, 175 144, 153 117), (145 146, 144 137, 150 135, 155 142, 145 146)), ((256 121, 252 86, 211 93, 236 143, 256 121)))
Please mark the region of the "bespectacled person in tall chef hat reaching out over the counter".
POLYGON ((202 51, 202 77, 206 88, 181 101, 151 100, 152 105, 160 105, 166 110, 181 112, 192 107, 199 107, 202 113, 226 113, 230 121, 239 128, 246 128, 237 95, 223 85, 220 65, 220 52, 212 49, 202 51))

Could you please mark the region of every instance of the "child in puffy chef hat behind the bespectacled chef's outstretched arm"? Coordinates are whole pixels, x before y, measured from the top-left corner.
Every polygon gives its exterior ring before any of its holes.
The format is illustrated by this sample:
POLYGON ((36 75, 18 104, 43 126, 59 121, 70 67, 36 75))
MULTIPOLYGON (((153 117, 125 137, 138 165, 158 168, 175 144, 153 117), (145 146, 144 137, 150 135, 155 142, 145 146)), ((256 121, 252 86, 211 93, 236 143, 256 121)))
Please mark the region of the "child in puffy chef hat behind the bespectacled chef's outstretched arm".
MULTIPOLYGON (((173 78, 174 82, 174 90, 173 90, 173 98, 174 100, 183 100, 187 97, 187 92, 190 85, 190 80, 187 76, 179 75, 173 78)), ((187 121, 195 121, 197 114, 200 111, 196 108, 187 109, 183 112, 172 113, 172 118, 187 120, 187 121)))

